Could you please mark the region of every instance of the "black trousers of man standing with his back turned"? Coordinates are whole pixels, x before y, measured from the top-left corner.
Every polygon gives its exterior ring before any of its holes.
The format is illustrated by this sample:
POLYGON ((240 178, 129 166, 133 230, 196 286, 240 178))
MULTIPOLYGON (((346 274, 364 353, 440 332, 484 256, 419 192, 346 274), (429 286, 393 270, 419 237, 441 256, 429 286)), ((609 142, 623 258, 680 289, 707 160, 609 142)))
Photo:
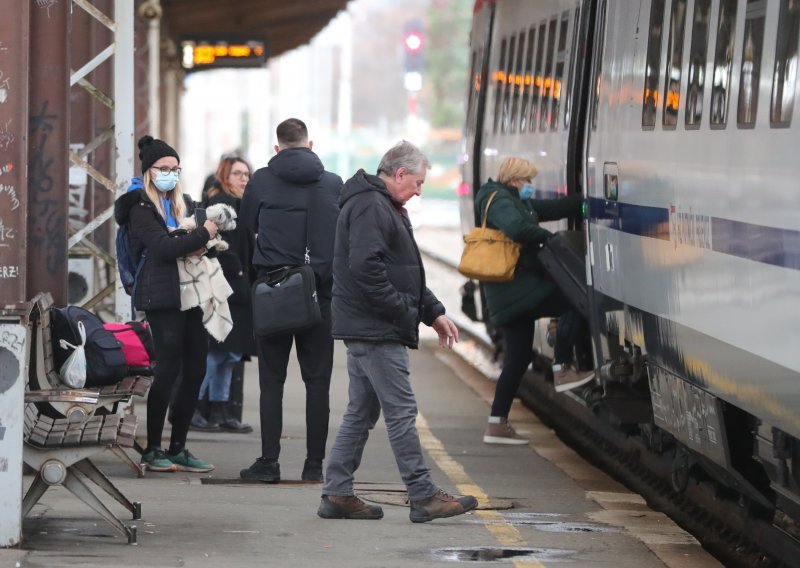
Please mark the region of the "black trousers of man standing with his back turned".
POLYGON ((256 338, 261 385, 261 456, 264 458, 278 459, 281 453, 283 385, 292 342, 306 386, 306 457, 317 460, 325 457, 333 371, 330 300, 320 298, 320 311, 322 321, 310 329, 266 339, 256 338))

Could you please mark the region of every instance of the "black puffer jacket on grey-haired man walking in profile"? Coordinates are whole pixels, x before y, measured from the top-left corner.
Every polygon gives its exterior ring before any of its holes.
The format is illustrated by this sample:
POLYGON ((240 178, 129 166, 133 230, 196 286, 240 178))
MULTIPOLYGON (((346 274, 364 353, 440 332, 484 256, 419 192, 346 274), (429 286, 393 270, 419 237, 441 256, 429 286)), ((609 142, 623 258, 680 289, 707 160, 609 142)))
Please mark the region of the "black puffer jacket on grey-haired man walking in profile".
POLYGON ((444 306, 425 286, 405 209, 383 181, 359 170, 342 190, 333 259, 333 337, 395 341, 416 349, 419 323, 444 306))

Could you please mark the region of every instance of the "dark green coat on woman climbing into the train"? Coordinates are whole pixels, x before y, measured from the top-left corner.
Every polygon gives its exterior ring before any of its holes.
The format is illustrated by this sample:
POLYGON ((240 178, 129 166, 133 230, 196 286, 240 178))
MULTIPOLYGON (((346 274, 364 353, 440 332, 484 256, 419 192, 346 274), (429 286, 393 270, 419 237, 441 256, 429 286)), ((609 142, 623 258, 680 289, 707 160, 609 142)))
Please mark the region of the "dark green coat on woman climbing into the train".
POLYGON ((476 219, 483 220, 486 202, 495 191, 497 195, 489 207, 487 226, 503 231, 522 245, 522 248, 514 280, 506 283, 484 283, 489 319, 499 326, 521 316, 559 315, 547 313, 547 306, 542 305, 544 299, 555 291, 556 285, 546 279, 545 269, 539 262, 539 249, 552 234, 540 227, 539 222, 578 215, 581 196, 523 201, 516 188, 490 179, 475 196, 476 219))

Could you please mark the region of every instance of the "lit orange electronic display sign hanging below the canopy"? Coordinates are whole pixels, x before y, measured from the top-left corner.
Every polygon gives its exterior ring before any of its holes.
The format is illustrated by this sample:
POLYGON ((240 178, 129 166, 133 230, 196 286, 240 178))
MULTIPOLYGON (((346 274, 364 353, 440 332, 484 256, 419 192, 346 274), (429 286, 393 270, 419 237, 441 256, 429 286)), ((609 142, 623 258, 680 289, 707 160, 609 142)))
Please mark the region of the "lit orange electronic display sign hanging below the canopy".
POLYGON ((224 67, 263 67, 266 42, 257 39, 184 39, 181 66, 187 71, 224 67))

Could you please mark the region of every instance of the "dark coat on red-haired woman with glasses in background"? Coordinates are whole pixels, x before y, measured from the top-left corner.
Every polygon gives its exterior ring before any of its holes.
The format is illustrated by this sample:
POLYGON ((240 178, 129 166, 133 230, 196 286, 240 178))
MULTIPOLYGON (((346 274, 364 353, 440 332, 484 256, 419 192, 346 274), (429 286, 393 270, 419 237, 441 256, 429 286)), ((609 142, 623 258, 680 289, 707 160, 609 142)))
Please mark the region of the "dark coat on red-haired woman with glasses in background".
MULTIPOLYGON (((224 203, 233 207, 240 214, 242 200, 221 191, 209 197, 207 204, 224 203)), ((228 298, 228 307, 233 318, 233 329, 221 343, 222 349, 244 355, 256 354, 256 343, 253 338, 253 307, 250 301, 250 285, 255 279, 253 271, 253 251, 255 235, 237 219, 233 231, 221 231, 220 236, 228 243, 228 250, 217 255, 225 279, 233 289, 228 298)), ((212 339, 213 341, 213 339, 212 339)))

